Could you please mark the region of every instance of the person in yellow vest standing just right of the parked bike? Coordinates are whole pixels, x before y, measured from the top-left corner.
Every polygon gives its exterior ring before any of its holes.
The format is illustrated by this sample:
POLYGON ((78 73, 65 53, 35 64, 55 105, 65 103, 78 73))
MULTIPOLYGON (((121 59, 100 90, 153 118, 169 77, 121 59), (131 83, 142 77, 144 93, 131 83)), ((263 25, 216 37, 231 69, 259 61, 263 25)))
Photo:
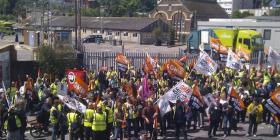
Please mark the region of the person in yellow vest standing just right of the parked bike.
POLYGON ((59 115, 59 109, 58 109, 59 100, 55 99, 53 106, 50 110, 50 122, 52 125, 52 140, 56 140, 58 135, 58 115, 59 115))

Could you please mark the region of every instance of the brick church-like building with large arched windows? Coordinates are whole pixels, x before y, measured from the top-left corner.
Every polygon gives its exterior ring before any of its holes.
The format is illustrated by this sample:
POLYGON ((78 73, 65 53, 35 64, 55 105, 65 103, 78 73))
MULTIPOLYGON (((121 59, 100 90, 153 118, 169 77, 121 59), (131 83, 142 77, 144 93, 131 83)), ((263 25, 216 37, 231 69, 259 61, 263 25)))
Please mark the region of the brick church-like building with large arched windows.
POLYGON ((196 21, 228 16, 215 0, 158 0, 149 17, 166 21, 177 34, 189 34, 196 21))

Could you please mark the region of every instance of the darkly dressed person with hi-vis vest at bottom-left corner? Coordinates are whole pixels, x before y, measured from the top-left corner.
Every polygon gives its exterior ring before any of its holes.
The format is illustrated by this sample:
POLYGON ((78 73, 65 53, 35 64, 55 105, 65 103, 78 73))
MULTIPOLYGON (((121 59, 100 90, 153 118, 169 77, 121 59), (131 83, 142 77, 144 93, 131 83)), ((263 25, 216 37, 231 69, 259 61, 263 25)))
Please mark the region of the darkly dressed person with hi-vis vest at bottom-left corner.
POLYGON ((8 118, 5 122, 7 125, 8 135, 7 140, 19 140, 21 121, 15 112, 15 107, 12 106, 8 111, 8 118))

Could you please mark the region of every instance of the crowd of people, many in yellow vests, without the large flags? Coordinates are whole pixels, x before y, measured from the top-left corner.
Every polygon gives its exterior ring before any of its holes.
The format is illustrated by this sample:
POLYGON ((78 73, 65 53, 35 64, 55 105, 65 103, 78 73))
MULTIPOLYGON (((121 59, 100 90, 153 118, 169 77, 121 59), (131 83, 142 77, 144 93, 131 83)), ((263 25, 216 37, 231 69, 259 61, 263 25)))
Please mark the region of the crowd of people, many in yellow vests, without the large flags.
POLYGON ((176 131, 176 139, 180 136, 188 139, 188 131, 199 130, 206 125, 209 125, 209 138, 216 137, 218 130, 227 137, 231 131, 238 131, 240 122, 248 122, 246 136, 256 137, 258 124, 266 123, 273 126, 273 135, 280 137, 279 116, 273 115, 263 104, 279 86, 279 73, 271 68, 243 67, 236 71, 220 66, 209 77, 190 69, 186 68, 189 74, 184 82, 191 87, 197 84, 201 96, 212 94, 215 103, 196 109, 177 100, 170 103, 171 111, 166 114, 161 114, 156 101, 178 80, 165 71, 161 71, 160 76, 146 75, 141 69, 88 71, 85 78, 89 91, 87 97, 74 91, 67 93, 87 106, 83 113, 68 108, 57 97, 58 85, 67 83, 66 76, 52 81, 48 74, 43 74, 34 81, 27 75, 21 87, 12 82, 6 91, 0 90, 0 135, 3 136, 2 132, 6 130, 8 140, 23 140, 27 116, 36 115, 46 132, 51 128, 52 140, 63 140, 68 133, 71 140, 157 139, 159 135, 165 137, 168 129, 176 131), (145 76, 150 96, 143 100, 140 95, 144 90, 145 76), (228 94, 231 86, 237 90, 245 109, 238 111, 231 104, 228 94))

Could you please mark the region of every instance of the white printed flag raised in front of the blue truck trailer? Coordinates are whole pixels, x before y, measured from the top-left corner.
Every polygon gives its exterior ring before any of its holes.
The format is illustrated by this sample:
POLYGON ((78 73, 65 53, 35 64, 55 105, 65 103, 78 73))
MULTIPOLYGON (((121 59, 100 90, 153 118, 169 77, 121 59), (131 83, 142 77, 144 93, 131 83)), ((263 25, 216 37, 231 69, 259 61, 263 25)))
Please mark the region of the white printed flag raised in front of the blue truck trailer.
POLYGON ((202 51, 200 52, 199 59, 194 67, 198 72, 211 76, 214 72, 216 72, 218 68, 218 64, 210 58, 210 56, 202 51))

